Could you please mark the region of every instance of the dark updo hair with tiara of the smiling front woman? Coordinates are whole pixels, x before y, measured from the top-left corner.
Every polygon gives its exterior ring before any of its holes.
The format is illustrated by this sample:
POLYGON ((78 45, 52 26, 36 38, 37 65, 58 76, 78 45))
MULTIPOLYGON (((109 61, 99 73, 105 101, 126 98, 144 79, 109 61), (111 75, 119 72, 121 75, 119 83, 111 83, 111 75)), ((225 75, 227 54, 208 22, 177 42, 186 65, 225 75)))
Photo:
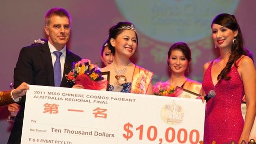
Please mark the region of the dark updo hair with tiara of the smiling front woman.
POLYGON ((138 39, 138 35, 136 33, 136 29, 134 27, 134 24, 132 24, 131 22, 118 22, 115 26, 112 26, 111 28, 109 28, 108 32, 109 32, 109 36, 108 36, 108 47, 111 50, 111 53, 115 54, 115 48, 111 45, 110 43, 110 39, 116 39, 117 36, 122 33, 122 31, 124 30, 133 30, 135 31, 135 35, 137 38, 137 45, 139 43, 139 39, 138 39))

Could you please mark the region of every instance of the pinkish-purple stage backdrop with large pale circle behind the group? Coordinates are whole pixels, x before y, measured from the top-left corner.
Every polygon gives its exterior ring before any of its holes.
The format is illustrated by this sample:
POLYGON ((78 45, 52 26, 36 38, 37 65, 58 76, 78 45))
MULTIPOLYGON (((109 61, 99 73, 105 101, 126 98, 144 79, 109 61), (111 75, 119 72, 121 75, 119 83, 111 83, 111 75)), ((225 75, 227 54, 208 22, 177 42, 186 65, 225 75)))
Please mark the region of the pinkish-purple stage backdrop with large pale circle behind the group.
MULTIPOLYGON (((236 15, 245 46, 255 54, 255 6, 255 0, 1 0, 0 90, 13 81, 20 49, 46 38, 44 15, 52 7, 63 7, 72 16, 69 50, 98 64, 108 29, 119 21, 134 23, 139 48, 132 61, 154 72, 155 84, 169 78, 167 52, 177 41, 192 50, 189 78, 202 81, 203 64, 218 57, 210 24, 219 13, 236 15)), ((0 107, 0 144, 7 142, 12 126, 6 122, 8 114, 7 107, 0 107)))

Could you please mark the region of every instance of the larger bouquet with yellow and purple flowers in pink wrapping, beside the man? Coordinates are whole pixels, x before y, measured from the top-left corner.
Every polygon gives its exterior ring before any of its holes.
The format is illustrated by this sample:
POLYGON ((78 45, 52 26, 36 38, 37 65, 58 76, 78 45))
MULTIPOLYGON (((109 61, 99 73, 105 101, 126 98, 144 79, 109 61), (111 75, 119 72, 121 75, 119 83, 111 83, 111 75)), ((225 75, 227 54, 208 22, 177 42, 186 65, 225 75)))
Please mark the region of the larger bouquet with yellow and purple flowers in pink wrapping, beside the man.
POLYGON ((91 64, 89 59, 73 63, 73 69, 65 77, 68 82, 82 85, 85 89, 101 90, 108 84, 108 81, 102 77, 100 68, 91 64))

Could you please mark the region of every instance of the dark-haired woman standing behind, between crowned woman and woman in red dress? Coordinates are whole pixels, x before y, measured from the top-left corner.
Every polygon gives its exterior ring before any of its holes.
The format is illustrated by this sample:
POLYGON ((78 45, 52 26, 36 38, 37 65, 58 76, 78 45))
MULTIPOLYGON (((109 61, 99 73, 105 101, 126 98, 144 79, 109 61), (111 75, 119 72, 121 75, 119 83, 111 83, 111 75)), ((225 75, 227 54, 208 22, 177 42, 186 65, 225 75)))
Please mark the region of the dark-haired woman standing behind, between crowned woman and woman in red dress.
POLYGON ((170 87, 182 87, 183 89, 201 94, 201 83, 192 79, 186 78, 186 72, 189 72, 189 63, 191 62, 191 50, 184 42, 174 43, 168 52, 167 64, 169 72, 171 73, 170 79, 165 82, 158 82, 153 86, 154 91, 160 85, 169 85, 170 87))

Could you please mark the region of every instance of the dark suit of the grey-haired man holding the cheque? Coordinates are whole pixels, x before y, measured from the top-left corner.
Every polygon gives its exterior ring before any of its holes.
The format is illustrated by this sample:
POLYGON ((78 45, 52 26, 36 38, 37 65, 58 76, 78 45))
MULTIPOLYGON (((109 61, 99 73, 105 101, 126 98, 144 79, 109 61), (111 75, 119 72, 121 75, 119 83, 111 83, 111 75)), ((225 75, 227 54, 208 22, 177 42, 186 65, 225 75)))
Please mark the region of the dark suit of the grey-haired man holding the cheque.
MULTIPOLYGON (((72 87, 67 82, 65 74, 70 72, 72 63, 80 61, 78 55, 73 54, 69 50, 66 51, 66 59, 64 65, 63 78, 61 87, 72 87)), ((20 50, 19 59, 14 68, 14 87, 17 88, 22 82, 30 85, 54 86, 54 72, 52 66, 52 57, 48 42, 36 46, 27 46, 20 50)), ((8 144, 20 144, 22 124, 24 116, 26 96, 20 101, 20 111, 15 118, 13 129, 11 131, 8 144)))

